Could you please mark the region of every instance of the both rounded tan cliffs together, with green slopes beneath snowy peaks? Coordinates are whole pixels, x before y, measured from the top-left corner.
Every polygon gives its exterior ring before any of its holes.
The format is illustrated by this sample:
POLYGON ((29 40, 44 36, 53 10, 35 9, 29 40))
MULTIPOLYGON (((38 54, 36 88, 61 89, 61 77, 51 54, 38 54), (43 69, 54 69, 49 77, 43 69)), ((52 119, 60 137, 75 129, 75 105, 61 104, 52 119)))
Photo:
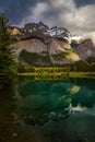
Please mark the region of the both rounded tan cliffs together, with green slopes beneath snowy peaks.
POLYGON ((20 40, 14 47, 19 60, 24 64, 62 66, 80 60, 79 55, 73 51, 68 43, 56 38, 51 38, 48 44, 44 44, 39 39, 20 40))

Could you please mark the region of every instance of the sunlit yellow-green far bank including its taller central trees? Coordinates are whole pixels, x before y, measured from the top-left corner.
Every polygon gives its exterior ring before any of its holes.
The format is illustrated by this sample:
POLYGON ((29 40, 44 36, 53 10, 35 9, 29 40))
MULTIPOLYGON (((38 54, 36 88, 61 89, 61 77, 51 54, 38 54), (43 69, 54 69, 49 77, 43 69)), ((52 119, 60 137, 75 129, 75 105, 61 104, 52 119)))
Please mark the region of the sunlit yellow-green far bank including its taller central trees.
POLYGON ((93 78, 95 72, 71 72, 62 68, 35 68, 33 72, 22 72, 19 76, 34 76, 34 79, 93 78))

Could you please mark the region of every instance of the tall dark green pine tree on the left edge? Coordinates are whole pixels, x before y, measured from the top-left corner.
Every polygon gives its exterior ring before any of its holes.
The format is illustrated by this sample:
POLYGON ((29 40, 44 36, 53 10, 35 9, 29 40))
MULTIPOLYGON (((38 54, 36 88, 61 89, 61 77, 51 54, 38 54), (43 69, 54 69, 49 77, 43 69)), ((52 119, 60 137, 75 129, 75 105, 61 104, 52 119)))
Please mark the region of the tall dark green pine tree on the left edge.
POLYGON ((0 83, 10 83, 17 72, 9 27, 9 19, 0 13, 0 83))

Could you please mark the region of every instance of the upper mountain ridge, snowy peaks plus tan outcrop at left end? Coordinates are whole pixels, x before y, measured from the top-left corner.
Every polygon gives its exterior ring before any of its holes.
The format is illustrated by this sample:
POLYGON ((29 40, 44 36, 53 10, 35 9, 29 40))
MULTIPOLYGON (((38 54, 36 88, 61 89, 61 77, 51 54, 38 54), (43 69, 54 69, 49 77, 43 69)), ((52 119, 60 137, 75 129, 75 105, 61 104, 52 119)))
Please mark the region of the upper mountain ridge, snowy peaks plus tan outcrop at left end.
MULTIPOLYGON (((11 35, 17 39, 25 39, 37 36, 54 37, 54 38, 66 38, 68 42, 71 39, 71 34, 67 28, 63 27, 51 27, 49 28, 43 22, 39 23, 27 23, 23 28, 12 27, 11 35), (14 31, 16 31, 14 33, 14 31), (16 34, 17 33, 17 34, 16 34)), ((44 38, 43 37, 43 38, 44 38)))

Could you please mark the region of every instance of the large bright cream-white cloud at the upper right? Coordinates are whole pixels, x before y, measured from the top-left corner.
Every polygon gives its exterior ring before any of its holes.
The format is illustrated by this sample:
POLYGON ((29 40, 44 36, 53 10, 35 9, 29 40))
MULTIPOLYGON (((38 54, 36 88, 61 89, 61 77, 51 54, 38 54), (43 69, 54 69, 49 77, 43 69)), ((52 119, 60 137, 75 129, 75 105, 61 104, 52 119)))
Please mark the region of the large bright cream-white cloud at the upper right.
POLYGON ((57 14, 60 25, 68 27, 75 34, 93 31, 95 28, 94 9, 95 5, 88 4, 76 8, 73 0, 50 0, 52 8, 59 9, 57 14))

